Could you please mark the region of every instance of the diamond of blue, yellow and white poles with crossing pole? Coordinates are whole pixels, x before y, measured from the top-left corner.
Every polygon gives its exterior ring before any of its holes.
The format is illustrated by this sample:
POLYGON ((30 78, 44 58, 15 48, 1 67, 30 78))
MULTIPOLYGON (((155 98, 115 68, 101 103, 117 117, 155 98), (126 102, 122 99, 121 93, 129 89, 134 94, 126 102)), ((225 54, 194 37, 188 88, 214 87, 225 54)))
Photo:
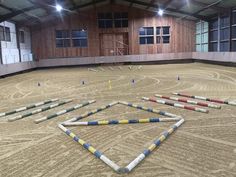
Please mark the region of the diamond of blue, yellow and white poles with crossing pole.
POLYGON ((154 151, 157 147, 160 146, 160 144, 166 140, 169 135, 171 135, 179 126, 181 126, 184 123, 184 119, 181 116, 160 111, 153 108, 148 108, 145 106, 140 106, 137 104, 128 103, 125 101, 116 101, 112 102, 108 105, 104 105, 102 107, 99 107, 97 109, 94 109, 90 112, 86 112, 78 117, 74 117, 72 119, 69 119, 65 122, 62 122, 58 124, 58 127, 69 137, 71 137, 75 142, 83 146, 86 150, 88 150, 90 153, 92 153, 96 158, 103 161, 105 164, 107 164, 110 168, 112 168, 117 173, 129 173, 131 172, 138 164, 140 164, 148 155, 151 154, 152 151, 154 151), (103 111, 105 109, 111 108, 117 104, 129 106, 135 109, 151 112, 154 114, 166 116, 165 118, 147 118, 147 119, 123 119, 123 120, 100 120, 100 121, 87 121, 87 122, 78 122, 79 120, 89 117, 90 115, 96 114, 100 111, 103 111), (102 152, 100 152, 98 149, 93 147, 91 144, 86 142, 85 140, 81 139, 79 136, 77 136, 75 133, 73 133, 69 128, 71 126, 100 126, 100 125, 114 125, 114 124, 137 124, 137 123, 159 123, 159 122, 175 122, 168 130, 165 130, 161 133, 161 135, 142 153, 140 153, 134 160, 132 160, 126 167, 120 167, 115 162, 110 160, 108 157, 106 157, 102 152))

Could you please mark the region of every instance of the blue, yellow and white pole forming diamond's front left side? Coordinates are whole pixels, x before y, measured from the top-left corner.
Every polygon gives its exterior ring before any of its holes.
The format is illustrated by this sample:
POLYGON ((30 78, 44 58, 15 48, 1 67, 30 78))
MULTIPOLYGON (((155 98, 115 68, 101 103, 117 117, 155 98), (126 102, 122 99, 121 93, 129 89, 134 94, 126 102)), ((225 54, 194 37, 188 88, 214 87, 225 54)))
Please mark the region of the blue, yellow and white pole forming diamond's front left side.
POLYGON ((90 153, 92 153, 95 157, 102 160, 105 164, 107 164, 109 167, 111 167, 114 171, 118 172, 120 167, 115 164, 113 161, 108 159, 105 155, 103 155, 100 151, 95 149, 93 146, 91 146, 89 143, 86 143, 84 140, 76 136, 73 132, 71 132, 69 129, 64 127, 62 124, 59 124, 58 127, 65 132, 69 137, 71 137, 75 142, 79 143, 81 146, 83 146, 85 149, 87 149, 90 153))

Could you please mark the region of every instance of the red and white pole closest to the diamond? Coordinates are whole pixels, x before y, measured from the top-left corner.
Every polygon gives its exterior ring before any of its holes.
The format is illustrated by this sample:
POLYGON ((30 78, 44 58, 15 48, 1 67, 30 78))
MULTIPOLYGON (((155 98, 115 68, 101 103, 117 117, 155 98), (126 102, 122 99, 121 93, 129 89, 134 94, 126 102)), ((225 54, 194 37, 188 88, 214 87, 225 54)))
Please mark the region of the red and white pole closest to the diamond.
POLYGON ((154 98, 142 97, 142 99, 146 100, 146 101, 152 101, 152 102, 155 102, 155 103, 165 104, 165 105, 174 106, 174 107, 187 109, 187 110, 191 110, 191 111, 196 111, 196 112, 201 112, 201 113, 208 113, 209 112, 207 109, 197 108, 197 107, 193 107, 193 106, 187 106, 187 105, 168 102, 168 101, 164 101, 164 100, 156 100, 154 98))

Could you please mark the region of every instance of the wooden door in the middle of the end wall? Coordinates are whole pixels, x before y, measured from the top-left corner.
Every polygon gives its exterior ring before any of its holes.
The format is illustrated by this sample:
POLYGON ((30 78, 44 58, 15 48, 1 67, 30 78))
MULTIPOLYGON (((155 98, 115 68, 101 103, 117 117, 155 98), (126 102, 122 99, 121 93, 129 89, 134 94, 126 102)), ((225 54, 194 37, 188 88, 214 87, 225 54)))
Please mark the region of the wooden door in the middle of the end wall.
POLYGON ((128 33, 100 34, 100 55, 128 55, 128 33))

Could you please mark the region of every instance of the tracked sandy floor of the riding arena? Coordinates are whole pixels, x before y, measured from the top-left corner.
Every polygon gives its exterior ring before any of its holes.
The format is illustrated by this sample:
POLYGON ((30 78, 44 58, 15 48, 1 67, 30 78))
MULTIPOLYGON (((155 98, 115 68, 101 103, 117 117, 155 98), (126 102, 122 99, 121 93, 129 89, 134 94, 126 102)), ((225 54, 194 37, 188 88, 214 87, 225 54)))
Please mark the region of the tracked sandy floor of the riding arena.
MULTIPOLYGON (((72 103, 15 122, 0 118, 0 176, 161 176, 235 177, 236 107, 223 105, 198 113, 151 102, 142 96, 171 96, 180 91, 211 98, 236 99, 236 68, 208 64, 149 65, 37 70, 0 79, 0 112, 48 98, 73 98, 72 103), (180 76, 178 81, 177 75, 180 76), (132 79, 135 83, 132 84, 132 79), (85 85, 82 85, 82 81, 85 85), (112 89, 109 89, 111 80, 112 89), (41 86, 38 87, 38 82, 41 86), (35 124, 34 119, 86 100, 97 102, 58 118, 35 124), (182 115, 186 122, 130 174, 119 175, 73 142, 57 123, 115 100, 139 103, 182 115)), ((27 112, 27 111, 26 111, 27 112)), ((20 113, 18 113, 20 114, 20 113)), ((17 115, 18 115, 17 114, 17 115)), ((157 117, 115 106, 84 120, 157 117)), ((172 123, 71 128, 120 166, 126 166, 172 123)))

